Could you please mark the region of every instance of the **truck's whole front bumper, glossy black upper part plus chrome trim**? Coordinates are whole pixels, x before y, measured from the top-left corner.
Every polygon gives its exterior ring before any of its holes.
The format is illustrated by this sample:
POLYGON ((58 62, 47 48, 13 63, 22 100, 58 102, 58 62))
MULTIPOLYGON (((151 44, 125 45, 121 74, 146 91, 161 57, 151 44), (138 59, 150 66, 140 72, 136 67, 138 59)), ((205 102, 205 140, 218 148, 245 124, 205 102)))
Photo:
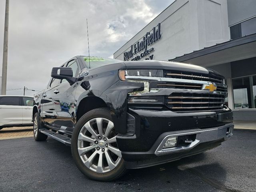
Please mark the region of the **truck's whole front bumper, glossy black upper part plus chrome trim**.
POLYGON ((127 168, 142 168, 198 154, 219 146, 232 136, 231 110, 222 112, 175 113, 129 109, 135 117, 135 134, 118 135, 118 147, 127 168), (174 136, 194 135, 186 146, 162 149, 174 136))

